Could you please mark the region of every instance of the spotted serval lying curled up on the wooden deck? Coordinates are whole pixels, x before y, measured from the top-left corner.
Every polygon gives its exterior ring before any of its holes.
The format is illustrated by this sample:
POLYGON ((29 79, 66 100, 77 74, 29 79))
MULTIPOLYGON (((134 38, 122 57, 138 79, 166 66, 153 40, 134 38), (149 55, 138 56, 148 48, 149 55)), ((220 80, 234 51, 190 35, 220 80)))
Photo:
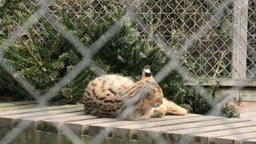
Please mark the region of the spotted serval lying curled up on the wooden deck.
POLYGON ((86 114, 128 120, 186 114, 185 109, 163 98, 149 66, 138 82, 115 74, 95 78, 86 86, 83 103, 86 114))

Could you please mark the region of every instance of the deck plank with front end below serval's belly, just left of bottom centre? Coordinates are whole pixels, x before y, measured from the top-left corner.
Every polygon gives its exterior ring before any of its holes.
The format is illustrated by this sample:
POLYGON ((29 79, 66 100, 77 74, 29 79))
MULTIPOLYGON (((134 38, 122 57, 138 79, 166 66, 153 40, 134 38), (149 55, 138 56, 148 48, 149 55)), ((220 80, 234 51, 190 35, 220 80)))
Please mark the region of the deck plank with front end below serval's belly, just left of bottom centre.
POLYGON ((203 116, 203 117, 195 117, 195 118, 173 119, 173 120, 166 120, 161 122, 146 122, 146 123, 133 124, 128 126, 115 126, 113 131, 113 137, 121 138, 121 139, 131 139, 131 138, 137 137, 138 129, 145 129, 145 128, 158 127, 158 126, 173 126, 173 125, 178 125, 183 123, 210 121, 210 120, 222 119, 222 118, 224 117, 203 116))

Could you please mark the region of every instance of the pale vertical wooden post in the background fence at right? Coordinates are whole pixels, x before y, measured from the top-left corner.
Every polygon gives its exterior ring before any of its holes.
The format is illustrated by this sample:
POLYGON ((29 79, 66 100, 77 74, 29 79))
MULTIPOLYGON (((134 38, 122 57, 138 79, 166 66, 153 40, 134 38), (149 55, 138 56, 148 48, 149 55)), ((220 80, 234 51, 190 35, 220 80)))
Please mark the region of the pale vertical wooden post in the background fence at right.
POLYGON ((232 78, 246 78, 248 0, 234 0, 232 78))

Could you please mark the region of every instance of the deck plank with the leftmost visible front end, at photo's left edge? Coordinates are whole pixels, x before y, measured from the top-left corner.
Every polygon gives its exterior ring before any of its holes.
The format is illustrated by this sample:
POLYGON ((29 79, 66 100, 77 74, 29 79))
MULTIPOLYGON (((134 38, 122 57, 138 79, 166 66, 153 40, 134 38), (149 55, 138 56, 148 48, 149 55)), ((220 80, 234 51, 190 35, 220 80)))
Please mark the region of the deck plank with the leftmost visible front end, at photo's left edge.
POLYGON ((70 113, 74 111, 82 111, 83 107, 74 107, 74 108, 66 108, 61 110, 46 110, 46 111, 38 111, 34 113, 26 113, 26 114, 12 114, 12 115, 5 115, 0 117, 0 126, 6 128, 13 128, 18 124, 20 118, 29 118, 29 117, 36 117, 42 115, 52 115, 52 114, 63 114, 63 113, 70 113))

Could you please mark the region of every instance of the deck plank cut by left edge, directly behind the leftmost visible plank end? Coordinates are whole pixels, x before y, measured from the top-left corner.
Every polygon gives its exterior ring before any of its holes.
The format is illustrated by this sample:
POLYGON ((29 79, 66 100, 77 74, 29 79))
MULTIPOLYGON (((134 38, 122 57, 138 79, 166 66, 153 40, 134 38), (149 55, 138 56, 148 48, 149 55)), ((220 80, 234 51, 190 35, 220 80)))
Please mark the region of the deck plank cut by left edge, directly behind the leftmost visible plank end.
POLYGON ((82 107, 82 105, 45 106, 45 107, 37 107, 37 108, 31 108, 31 109, 25 109, 25 110, 0 111, 0 116, 11 115, 11 114, 25 114, 25 113, 32 113, 32 112, 46 111, 46 110, 68 109, 72 107, 82 107))

